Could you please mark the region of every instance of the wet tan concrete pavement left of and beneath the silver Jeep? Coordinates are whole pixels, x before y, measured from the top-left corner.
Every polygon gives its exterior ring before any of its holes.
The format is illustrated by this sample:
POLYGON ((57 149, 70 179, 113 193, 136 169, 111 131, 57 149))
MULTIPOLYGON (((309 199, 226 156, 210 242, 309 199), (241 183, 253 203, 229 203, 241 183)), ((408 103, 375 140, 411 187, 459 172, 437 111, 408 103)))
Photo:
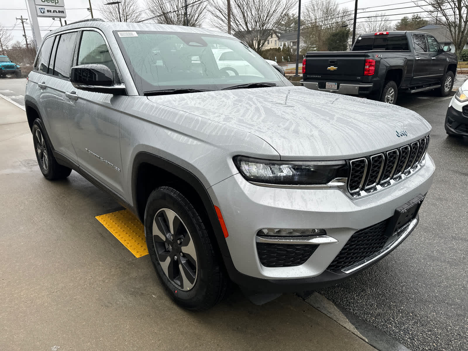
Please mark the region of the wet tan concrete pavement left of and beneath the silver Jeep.
POLYGON ((149 257, 94 218, 117 203, 75 172, 47 181, 25 112, 1 98, 0 111, 1 349, 375 350, 292 294, 177 307, 149 257))

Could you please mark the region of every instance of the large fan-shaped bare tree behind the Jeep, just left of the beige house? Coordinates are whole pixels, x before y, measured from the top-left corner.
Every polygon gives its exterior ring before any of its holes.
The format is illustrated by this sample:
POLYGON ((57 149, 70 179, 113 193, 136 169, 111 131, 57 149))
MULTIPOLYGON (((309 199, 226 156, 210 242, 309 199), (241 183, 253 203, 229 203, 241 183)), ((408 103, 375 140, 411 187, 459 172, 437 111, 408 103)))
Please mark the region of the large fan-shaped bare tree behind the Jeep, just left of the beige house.
MULTIPOLYGON (((231 28, 234 36, 260 52, 268 38, 289 13, 295 0, 231 0, 231 28)), ((210 13, 220 30, 227 30, 227 3, 212 0, 210 13)))

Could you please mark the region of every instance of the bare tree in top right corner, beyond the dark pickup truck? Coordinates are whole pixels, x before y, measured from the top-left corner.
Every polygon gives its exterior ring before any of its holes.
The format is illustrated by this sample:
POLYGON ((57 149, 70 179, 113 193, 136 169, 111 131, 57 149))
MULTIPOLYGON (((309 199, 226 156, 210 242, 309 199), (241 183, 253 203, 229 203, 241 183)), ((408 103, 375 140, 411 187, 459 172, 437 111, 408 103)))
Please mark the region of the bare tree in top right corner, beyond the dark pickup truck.
POLYGON ((424 10, 430 7, 428 17, 447 29, 459 55, 468 40, 468 0, 421 0, 415 4, 424 10))

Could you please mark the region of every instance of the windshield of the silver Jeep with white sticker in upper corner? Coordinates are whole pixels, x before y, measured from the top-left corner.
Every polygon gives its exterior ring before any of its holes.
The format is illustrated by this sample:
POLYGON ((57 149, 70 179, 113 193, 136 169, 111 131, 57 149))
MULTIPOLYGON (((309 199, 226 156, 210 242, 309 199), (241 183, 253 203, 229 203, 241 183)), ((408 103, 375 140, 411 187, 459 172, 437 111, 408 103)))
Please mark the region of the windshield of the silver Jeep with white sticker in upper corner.
POLYGON ((285 85, 278 71, 235 38, 158 31, 114 31, 114 35, 135 83, 146 94, 250 83, 285 85))

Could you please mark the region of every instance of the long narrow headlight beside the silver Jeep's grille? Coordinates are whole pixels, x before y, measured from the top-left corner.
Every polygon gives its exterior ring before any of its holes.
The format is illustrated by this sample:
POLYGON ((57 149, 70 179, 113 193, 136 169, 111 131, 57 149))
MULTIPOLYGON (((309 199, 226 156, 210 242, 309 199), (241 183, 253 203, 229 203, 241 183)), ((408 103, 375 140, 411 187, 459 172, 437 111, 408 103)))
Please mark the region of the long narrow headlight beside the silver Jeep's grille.
POLYGON ((248 181, 265 184, 327 184, 348 175, 346 161, 270 161, 236 156, 234 163, 248 181))

